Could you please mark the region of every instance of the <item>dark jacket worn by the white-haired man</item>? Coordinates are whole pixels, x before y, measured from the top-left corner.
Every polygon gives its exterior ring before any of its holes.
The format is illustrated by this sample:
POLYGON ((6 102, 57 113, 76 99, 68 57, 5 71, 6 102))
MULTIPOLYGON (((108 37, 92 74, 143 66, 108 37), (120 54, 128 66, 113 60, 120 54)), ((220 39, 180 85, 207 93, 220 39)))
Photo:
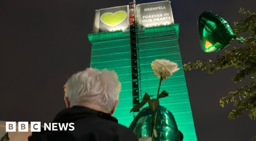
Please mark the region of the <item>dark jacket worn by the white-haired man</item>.
POLYGON ((29 141, 138 141, 133 132, 110 114, 73 106, 57 114, 53 123, 74 123, 74 131, 33 132, 29 141))

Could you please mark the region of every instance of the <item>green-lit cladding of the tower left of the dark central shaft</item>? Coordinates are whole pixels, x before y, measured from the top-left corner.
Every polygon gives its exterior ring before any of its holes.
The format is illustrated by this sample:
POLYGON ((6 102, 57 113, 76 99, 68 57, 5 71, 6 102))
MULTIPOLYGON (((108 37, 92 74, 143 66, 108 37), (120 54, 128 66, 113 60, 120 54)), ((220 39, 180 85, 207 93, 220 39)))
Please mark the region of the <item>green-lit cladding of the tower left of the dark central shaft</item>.
POLYGON ((100 70, 115 70, 118 74, 122 89, 114 117, 120 124, 129 126, 133 121, 133 114, 130 113, 133 105, 130 31, 88 34, 88 39, 92 44, 91 66, 100 70))

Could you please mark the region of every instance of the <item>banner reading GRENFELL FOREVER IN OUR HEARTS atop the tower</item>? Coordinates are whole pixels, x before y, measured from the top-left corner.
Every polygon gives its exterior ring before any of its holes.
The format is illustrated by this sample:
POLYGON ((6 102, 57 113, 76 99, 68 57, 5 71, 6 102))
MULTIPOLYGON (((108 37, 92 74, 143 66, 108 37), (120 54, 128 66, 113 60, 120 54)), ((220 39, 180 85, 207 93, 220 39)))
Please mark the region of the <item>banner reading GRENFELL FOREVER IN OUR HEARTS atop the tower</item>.
POLYGON ((142 3, 137 5, 139 27, 152 27, 173 24, 170 1, 142 3))

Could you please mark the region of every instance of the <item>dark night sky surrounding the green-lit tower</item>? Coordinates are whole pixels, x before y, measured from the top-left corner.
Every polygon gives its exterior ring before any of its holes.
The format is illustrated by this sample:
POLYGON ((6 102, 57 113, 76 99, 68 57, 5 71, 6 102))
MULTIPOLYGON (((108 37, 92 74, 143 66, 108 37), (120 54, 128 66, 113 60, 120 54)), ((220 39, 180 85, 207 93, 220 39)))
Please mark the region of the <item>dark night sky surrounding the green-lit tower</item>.
MULTIPOLYGON (((73 73, 90 66, 94 10, 127 5, 129 0, 0 0, 0 120, 50 122, 65 108, 63 85, 73 73)), ((171 0, 180 23, 183 63, 213 59, 222 52, 204 53, 199 46, 197 19, 213 11, 233 27, 240 7, 256 12, 255 0, 171 0)), ((228 49, 239 46, 232 42, 228 49)), ((219 99, 242 86, 231 80, 234 68, 208 75, 186 71, 186 81, 198 141, 251 141, 256 122, 248 112, 227 116, 232 104, 219 99)))

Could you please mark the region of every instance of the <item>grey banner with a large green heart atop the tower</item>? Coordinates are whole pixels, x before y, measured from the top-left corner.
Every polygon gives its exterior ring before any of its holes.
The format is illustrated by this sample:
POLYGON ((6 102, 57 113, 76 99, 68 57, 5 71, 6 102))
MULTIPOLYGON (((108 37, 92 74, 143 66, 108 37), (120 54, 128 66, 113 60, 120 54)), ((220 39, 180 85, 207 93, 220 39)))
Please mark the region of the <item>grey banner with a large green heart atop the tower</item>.
POLYGON ((128 29, 129 22, 128 5, 95 10, 93 32, 128 29))

